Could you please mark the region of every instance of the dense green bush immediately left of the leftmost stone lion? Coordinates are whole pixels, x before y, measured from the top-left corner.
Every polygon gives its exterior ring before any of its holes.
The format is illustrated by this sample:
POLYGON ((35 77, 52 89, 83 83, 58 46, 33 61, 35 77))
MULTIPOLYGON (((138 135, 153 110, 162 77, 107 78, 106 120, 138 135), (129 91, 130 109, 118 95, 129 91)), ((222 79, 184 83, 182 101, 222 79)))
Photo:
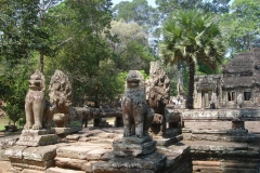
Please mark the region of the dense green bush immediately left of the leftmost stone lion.
POLYGON ((30 61, 20 59, 13 64, 10 61, 4 63, 0 83, 4 85, 4 90, 0 90, 0 97, 6 102, 6 106, 2 107, 6 112, 9 119, 15 124, 25 117, 24 105, 25 95, 28 91, 28 79, 34 66, 35 59, 30 61))

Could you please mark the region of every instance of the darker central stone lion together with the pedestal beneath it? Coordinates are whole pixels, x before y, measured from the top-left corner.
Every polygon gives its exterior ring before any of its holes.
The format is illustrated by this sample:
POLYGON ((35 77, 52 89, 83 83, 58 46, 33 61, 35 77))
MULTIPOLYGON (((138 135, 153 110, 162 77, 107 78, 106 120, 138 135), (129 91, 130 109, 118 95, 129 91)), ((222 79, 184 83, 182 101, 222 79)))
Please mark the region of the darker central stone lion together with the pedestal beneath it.
POLYGON ((148 135, 154 110, 146 105, 144 78, 138 70, 128 72, 121 107, 125 124, 123 137, 113 143, 114 155, 136 157, 154 152, 156 142, 148 135))

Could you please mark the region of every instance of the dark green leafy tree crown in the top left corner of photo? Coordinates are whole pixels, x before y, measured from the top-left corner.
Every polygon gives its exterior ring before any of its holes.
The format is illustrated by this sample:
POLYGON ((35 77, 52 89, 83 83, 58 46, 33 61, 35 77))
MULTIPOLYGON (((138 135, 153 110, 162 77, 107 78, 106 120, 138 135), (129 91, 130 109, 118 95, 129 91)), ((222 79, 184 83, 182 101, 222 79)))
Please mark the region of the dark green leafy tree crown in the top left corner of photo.
POLYGON ((48 30, 40 27, 39 0, 0 0, 0 57, 14 61, 29 58, 34 52, 52 54, 48 30))

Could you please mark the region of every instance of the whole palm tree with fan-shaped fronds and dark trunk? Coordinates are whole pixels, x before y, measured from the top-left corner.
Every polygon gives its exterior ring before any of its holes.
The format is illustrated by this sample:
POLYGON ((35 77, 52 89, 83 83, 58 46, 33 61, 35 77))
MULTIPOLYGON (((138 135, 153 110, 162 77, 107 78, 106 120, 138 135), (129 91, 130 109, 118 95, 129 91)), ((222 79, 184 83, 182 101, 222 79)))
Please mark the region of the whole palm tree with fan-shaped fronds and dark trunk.
POLYGON ((218 17, 195 10, 179 11, 168 17, 162 26, 164 40, 159 44, 159 56, 166 64, 179 61, 188 66, 188 94, 186 107, 193 109, 194 75, 197 61, 213 70, 225 53, 218 27, 218 17))

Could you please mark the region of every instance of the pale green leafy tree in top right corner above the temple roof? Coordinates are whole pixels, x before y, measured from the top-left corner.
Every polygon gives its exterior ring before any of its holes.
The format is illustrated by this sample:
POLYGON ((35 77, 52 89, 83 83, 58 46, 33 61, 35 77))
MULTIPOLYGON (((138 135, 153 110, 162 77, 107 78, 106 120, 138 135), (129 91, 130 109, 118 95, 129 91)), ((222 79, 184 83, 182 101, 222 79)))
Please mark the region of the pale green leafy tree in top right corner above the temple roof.
POLYGON ((255 0, 234 0, 231 13, 222 17, 221 26, 231 54, 249 51, 260 38, 260 3, 255 0))

